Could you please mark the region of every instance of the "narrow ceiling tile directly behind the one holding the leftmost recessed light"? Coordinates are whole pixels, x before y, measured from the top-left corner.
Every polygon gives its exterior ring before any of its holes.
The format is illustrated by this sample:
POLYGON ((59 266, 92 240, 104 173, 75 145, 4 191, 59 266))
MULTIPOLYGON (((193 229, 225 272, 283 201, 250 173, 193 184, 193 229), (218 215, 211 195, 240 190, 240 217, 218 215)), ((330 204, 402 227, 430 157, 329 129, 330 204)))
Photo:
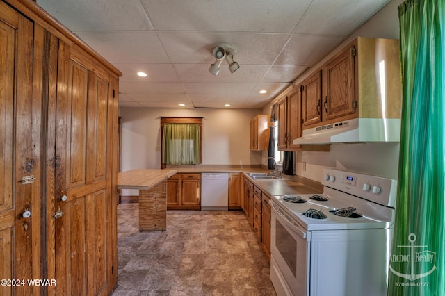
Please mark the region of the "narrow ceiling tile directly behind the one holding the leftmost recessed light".
POLYGON ((122 82, 119 83, 119 91, 127 94, 171 94, 185 93, 181 83, 167 82, 122 82))

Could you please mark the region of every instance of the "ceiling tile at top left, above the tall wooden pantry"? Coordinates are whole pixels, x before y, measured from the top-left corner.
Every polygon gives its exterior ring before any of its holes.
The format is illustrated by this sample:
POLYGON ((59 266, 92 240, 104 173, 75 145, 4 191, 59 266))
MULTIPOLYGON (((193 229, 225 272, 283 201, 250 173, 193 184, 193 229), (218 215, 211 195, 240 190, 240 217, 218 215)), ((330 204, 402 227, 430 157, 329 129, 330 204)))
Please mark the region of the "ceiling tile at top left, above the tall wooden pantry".
POLYGON ((71 31, 152 30, 139 0, 38 0, 71 31))

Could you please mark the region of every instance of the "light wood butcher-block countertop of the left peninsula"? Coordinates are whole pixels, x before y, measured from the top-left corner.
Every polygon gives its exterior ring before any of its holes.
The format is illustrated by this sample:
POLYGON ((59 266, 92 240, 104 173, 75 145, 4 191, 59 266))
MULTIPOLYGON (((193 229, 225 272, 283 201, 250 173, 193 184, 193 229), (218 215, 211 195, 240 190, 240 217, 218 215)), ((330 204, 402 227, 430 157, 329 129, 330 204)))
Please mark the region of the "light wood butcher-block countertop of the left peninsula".
POLYGON ((175 169, 139 169, 118 172, 118 189, 149 190, 176 173, 175 169))

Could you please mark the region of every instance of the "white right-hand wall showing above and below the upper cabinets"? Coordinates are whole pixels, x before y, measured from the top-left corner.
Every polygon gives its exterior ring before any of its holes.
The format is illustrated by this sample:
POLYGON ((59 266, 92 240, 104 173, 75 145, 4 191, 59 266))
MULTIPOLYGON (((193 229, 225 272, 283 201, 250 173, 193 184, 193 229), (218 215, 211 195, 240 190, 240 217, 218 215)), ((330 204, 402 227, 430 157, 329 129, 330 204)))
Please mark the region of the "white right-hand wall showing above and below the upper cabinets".
MULTIPOLYGON (((401 3, 403 0, 390 1, 314 68, 321 66, 357 36, 399 39, 398 6, 401 3)), ((299 77, 295 82, 300 83, 309 74, 310 72, 299 77)), ((263 109, 263 113, 269 113, 273 103, 275 100, 263 109)), ((297 152, 296 174, 321 182, 323 168, 335 167, 339 170, 353 170, 397 179, 398 152, 398 143, 332 144, 330 152, 297 152), (306 170, 303 170, 304 167, 306 170)), ((263 157, 265 158, 266 154, 263 154, 263 157)))

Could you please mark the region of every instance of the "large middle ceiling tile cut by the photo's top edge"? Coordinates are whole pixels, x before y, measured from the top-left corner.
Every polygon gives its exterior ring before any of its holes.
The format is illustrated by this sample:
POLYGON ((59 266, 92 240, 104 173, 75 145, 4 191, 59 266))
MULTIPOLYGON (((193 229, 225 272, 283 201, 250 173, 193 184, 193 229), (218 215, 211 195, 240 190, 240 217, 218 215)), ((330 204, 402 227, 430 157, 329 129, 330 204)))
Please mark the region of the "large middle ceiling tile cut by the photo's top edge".
POLYGON ((156 30, 290 33, 311 0, 142 0, 156 30))

